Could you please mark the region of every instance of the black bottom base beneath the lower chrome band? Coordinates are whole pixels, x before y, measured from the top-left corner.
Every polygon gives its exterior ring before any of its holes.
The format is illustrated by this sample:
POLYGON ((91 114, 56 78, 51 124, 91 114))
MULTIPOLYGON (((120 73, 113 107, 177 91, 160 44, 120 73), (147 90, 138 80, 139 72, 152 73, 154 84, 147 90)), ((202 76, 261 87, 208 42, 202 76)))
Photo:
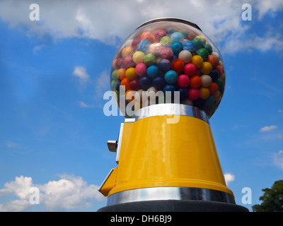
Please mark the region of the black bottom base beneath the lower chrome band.
POLYGON ((98 212, 248 212, 243 206, 215 201, 139 201, 100 208, 98 212))

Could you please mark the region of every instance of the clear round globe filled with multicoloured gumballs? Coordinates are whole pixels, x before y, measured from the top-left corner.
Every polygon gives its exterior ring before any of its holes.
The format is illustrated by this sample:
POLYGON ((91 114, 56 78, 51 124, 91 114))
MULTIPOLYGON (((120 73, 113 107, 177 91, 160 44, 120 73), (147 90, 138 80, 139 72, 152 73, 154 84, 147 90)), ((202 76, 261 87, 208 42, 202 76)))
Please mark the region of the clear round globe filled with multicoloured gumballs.
POLYGON ((216 111, 225 88, 219 50, 186 20, 146 22, 121 44, 112 61, 111 90, 125 117, 149 105, 180 103, 216 111))

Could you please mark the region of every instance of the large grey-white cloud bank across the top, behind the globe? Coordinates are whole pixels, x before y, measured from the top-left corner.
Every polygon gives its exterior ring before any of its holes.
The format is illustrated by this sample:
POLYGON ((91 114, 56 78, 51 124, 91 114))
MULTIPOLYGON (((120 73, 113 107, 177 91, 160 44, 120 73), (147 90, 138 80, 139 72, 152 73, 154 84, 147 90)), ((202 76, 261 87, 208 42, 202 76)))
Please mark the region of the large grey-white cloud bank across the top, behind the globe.
MULTIPOLYGON (((39 1, 40 21, 30 21, 29 5, 34 1, 0 1, 0 17, 12 26, 24 25, 28 33, 49 34, 54 39, 88 37, 108 44, 124 40, 146 20, 175 17, 190 20, 202 28, 226 52, 243 51, 247 47, 266 51, 283 49, 282 36, 277 34, 247 37, 248 25, 243 25, 241 6, 246 0, 175 0, 175 1, 39 1), (180 9, 181 6, 181 9, 180 9)), ((250 1, 258 18, 275 15, 282 10, 282 0, 250 1)), ((256 15, 253 13, 253 15, 256 15)), ((253 20, 257 18, 253 17, 253 20)), ((248 24, 248 23, 247 23, 248 24)))

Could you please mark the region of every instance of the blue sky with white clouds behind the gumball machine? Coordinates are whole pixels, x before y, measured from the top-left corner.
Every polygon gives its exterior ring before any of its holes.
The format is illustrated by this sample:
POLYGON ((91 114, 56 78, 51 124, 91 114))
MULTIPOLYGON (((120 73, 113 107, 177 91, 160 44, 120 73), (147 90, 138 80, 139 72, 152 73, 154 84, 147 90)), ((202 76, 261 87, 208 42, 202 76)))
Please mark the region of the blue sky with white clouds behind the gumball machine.
POLYGON ((159 17, 197 23, 222 54, 226 90, 210 124, 236 203, 251 210, 261 189, 282 179, 282 1, 182 1, 183 11, 176 1, 150 2, 1 1, 1 211, 105 206, 97 188, 116 167, 106 143, 124 120, 103 114, 110 66, 122 40, 159 17), (32 3, 39 21, 29 20, 32 3), (246 3, 250 21, 241 19, 246 3), (28 201, 33 186, 39 205, 28 201), (244 187, 251 205, 241 201, 244 187))

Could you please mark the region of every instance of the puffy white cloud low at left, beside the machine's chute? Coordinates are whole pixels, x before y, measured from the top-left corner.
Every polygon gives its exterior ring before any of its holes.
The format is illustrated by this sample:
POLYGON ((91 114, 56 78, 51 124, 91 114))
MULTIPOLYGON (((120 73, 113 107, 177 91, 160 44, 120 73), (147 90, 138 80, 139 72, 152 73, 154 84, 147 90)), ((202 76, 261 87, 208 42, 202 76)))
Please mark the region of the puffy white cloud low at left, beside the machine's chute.
POLYGON ((47 211, 72 210, 89 208, 95 201, 103 201, 98 186, 88 185, 81 177, 61 175, 58 181, 47 184, 33 184, 31 177, 16 177, 15 181, 4 184, 0 196, 13 194, 16 200, 0 204, 0 211, 24 211, 31 208, 30 189, 36 187, 40 191, 40 203, 47 211))

